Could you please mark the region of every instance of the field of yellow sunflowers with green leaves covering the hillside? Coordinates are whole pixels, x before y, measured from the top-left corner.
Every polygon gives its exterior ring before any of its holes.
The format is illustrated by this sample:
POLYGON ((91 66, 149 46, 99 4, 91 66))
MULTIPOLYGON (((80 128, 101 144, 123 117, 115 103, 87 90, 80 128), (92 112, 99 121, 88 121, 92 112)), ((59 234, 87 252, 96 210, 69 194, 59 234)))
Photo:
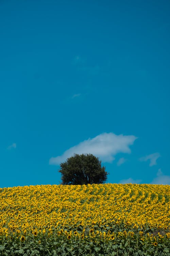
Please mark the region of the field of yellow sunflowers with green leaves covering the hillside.
POLYGON ((170 256, 170 186, 0 188, 0 255, 170 256))

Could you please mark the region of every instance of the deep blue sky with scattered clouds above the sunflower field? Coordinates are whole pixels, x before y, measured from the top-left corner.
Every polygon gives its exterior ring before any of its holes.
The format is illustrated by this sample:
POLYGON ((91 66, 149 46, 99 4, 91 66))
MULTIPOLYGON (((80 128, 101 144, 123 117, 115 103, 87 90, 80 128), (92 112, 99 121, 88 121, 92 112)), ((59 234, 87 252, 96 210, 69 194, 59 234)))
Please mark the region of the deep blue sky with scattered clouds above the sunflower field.
POLYGON ((0 1, 0 187, 60 184, 74 153, 107 183, 170 184, 169 10, 0 1))

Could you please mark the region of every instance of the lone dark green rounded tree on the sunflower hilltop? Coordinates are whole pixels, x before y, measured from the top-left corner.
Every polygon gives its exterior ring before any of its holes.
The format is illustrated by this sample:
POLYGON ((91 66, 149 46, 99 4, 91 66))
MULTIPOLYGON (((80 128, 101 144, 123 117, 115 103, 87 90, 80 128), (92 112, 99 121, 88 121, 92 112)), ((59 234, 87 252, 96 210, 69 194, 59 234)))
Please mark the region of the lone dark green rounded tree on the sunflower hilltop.
POLYGON ((105 167, 101 167, 99 158, 92 154, 74 154, 60 164, 63 185, 83 185, 104 183, 107 179, 105 167))

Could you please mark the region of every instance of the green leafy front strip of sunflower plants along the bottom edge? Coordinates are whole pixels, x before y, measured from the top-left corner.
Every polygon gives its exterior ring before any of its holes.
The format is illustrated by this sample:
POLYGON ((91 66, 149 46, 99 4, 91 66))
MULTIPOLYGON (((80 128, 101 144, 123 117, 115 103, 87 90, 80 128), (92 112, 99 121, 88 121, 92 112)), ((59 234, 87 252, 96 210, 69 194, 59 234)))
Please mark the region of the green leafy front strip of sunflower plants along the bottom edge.
POLYGON ((0 236, 0 256, 170 256, 167 235, 141 236, 140 229, 130 233, 116 231, 114 240, 110 240, 109 231, 100 230, 97 234, 97 228, 94 233, 84 234, 83 238, 81 231, 76 236, 72 232, 68 239, 70 231, 67 230, 67 234, 65 231, 58 234, 54 229, 50 236, 40 233, 36 237, 28 235, 23 242, 16 236, 0 236))

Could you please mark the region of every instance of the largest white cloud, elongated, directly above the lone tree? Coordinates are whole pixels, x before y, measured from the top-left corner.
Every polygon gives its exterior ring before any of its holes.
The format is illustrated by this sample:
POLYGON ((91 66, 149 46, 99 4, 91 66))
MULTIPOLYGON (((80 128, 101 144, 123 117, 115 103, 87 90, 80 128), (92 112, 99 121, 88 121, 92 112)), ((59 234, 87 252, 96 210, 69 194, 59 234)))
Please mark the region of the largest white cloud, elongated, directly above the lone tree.
POLYGON ((63 155, 51 157, 49 163, 51 165, 60 165, 61 162, 73 156, 73 154, 93 154, 104 162, 112 162, 118 153, 131 153, 129 148, 133 145, 137 137, 133 135, 125 136, 123 134, 116 135, 112 132, 102 133, 95 138, 80 142, 78 145, 70 147, 63 155))

